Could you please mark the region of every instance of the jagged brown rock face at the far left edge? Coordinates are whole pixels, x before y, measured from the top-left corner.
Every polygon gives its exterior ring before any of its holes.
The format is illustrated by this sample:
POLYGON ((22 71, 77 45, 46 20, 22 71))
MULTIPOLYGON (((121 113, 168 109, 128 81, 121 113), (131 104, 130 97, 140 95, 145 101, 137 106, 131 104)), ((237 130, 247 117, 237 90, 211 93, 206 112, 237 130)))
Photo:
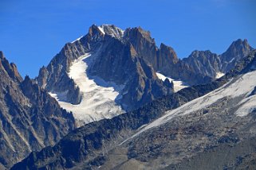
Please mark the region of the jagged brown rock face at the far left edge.
POLYGON ((0 164, 6 168, 31 151, 54 145, 75 122, 57 101, 0 52, 0 164))

